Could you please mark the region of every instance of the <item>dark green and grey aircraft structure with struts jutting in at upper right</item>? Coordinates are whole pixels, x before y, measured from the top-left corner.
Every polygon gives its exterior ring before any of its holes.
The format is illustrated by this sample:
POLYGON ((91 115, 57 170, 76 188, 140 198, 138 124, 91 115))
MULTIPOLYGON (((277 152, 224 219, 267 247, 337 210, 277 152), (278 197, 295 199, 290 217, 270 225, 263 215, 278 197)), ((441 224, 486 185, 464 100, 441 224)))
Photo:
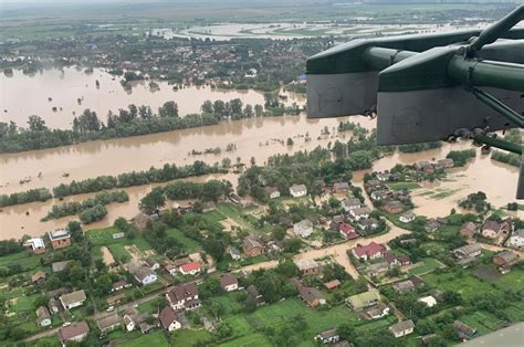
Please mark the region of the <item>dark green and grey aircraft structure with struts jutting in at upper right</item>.
MULTIPOLYGON (((482 32, 361 39, 321 52, 307 60, 307 116, 376 115, 379 145, 469 137, 522 155, 486 134, 524 127, 524 29, 512 29, 523 19, 520 6, 482 32)), ((518 186, 524 199, 522 175, 518 186)))

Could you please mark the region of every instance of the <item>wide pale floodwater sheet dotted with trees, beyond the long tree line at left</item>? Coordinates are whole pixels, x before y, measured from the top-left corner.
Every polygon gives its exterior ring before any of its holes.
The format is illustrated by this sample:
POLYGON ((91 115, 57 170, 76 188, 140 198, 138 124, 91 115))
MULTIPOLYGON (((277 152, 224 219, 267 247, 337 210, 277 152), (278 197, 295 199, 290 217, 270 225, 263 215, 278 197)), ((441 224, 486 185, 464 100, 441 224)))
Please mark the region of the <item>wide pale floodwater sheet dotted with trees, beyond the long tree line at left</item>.
MULTIPOLYGON (((155 81, 158 90, 149 88, 149 81, 132 82, 133 88, 125 91, 119 76, 113 76, 103 69, 84 73, 84 69, 64 67, 45 70, 34 75, 24 75, 13 71, 12 76, 0 74, 0 122, 14 120, 27 126, 30 115, 39 115, 50 128, 71 128, 75 115, 85 108, 95 111, 98 118, 106 123, 107 112, 116 113, 129 104, 150 106, 153 112, 165 102, 175 101, 180 116, 200 113, 200 106, 207 99, 230 101, 241 98, 244 104, 264 104, 262 92, 253 90, 211 90, 210 86, 186 86, 172 90, 165 81, 155 81), (96 87, 96 81, 99 87, 96 87), (51 97, 51 101, 49 99, 51 97), (78 104, 77 99, 82 102, 78 104), (56 112, 53 112, 56 107, 56 112)), ((304 96, 294 93, 281 93, 287 96, 284 104, 304 103, 304 96)))

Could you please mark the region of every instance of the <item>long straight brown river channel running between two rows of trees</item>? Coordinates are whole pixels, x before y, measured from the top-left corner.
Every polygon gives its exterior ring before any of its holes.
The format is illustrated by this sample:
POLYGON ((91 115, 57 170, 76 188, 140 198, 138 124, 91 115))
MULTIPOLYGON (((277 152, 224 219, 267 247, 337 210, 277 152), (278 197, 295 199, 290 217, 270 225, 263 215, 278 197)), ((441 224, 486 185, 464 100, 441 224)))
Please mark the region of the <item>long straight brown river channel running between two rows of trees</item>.
MULTIPOLYGON (((339 122, 349 118, 307 119, 305 115, 266 117, 224 122, 218 125, 159 133, 137 137, 90 141, 74 146, 0 155, 0 193, 11 193, 32 188, 52 188, 62 182, 93 178, 102 175, 119 175, 133 170, 147 170, 151 166, 161 167, 166 162, 176 165, 202 160, 210 165, 228 157, 234 164, 237 157, 249 164, 251 157, 263 164, 268 157, 277 153, 294 153, 313 149, 329 141, 348 140, 349 134, 335 134, 339 122), (324 127, 332 135, 321 136, 324 127), (312 140, 305 141, 305 134, 312 140), (338 136, 338 137, 337 137, 338 136), (283 143, 294 138, 293 146, 283 143), (321 137, 321 139, 317 139, 321 137), (279 143, 279 139, 283 143, 279 143), (237 149, 226 151, 232 143, 237 149), (193 149, 220 147, 220 155, 191 156, 193 149), (38 177, 39 174, 41 177, 38 177), (69 177, 63 177, 69 174, 69 177), (20 185, 22 178, 30 177, 29 183, 20 185)), ((352 117, 367 128, 375 127, 375 120, 352 117)))

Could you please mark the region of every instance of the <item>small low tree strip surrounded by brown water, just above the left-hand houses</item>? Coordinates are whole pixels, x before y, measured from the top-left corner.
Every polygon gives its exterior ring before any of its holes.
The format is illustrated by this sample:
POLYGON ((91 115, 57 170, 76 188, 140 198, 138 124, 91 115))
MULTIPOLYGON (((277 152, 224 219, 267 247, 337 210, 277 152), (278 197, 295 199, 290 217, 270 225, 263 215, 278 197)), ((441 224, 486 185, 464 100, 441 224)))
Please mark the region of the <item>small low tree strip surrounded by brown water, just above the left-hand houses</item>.
MULTIPOLYGON (((51 208, 51 210, 48 212, 48 214, 42 219, 42 221, 59 219, 62 217, 74 215, 78 213, 81 213, 84 217, 88 217, 92 214, 90 210, 92 211, 92 209, 95 208, 95 206, 106 206, 113 202, 122 203, 126 201, 129 201, 129 196, 124 190, 117 190, 117 191, 103 190, 96 193, 96 196, 93 199, 86 199, 81 202, 72 201, 72 202, 64 202, 61 204, 54 204, 51 208)), ((99 207, 97 207, 96 210, 102 211, 99 207)), ((87 218, 87 220, 91 220, 91 218, 87 218)))

